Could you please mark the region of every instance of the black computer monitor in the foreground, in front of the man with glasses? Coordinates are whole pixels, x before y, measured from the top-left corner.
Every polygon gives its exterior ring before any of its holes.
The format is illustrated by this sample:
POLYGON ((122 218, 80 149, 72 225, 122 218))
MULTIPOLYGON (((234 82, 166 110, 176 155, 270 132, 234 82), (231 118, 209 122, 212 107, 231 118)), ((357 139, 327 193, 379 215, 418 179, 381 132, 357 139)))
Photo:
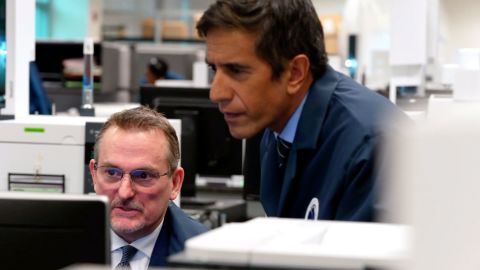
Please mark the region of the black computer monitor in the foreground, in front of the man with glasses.
POLYGON ((0 193, 1 268, 109 264, 108 209, 103 196, 0 193))

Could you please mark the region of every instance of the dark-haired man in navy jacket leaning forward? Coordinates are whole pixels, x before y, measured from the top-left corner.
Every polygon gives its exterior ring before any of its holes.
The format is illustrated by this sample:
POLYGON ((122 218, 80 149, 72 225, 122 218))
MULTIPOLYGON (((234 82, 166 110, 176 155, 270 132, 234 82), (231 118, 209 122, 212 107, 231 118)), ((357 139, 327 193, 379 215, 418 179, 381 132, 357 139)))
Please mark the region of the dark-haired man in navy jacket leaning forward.
POLYGON ((403 114, 328 65, 310 0, 217 0, 197 24, 231 134, 261 143, 269 216, 371 221, 384 125, 403 114))

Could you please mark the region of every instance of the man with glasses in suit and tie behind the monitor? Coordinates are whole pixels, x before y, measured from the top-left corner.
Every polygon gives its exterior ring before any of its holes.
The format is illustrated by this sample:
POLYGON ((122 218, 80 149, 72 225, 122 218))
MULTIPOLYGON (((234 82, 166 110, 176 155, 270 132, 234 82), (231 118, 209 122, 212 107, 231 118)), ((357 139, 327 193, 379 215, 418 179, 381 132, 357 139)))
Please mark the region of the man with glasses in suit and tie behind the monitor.
POLYGON ((170 203, 184 171, 175 130, 160 113, 145 107, 115 113, 94 149, 90 173, 96 193, 110 202, 113 266, 166 265, 185 240, 207 230, 170 203))

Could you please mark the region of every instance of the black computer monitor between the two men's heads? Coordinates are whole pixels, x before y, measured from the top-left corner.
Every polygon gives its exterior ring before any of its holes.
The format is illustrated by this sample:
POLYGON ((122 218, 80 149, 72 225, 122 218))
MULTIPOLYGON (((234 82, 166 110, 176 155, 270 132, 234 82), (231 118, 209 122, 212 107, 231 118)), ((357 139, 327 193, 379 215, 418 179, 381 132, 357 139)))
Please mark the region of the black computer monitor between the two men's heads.
POLYGON ((140 103, 182 120, 182 196, 195 196, 195 177, 242 174, 242 141, 234 139, 209 88, 142 86, 140 103))

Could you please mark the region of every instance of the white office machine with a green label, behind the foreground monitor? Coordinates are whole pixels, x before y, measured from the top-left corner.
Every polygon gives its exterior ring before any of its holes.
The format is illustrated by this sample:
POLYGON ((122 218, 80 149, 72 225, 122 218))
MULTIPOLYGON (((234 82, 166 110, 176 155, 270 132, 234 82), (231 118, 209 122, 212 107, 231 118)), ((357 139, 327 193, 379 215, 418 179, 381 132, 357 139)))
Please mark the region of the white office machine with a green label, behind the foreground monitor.
MULTIPOLYGON (((24 175, 23 190, 84 193, 85 122, 104 118, 32 115, 0 121, 0 191, 24 175), (30 180, 26 175, 31 175, 30 180), (50 177, 63 179, 64 188, 44 185, 50 177), (18 179, 18 178, 17 178, 18 179), (27 186, 28 184, 28 186, 27 186)), ((58 182, 58 181, 57 181, 58 182)))

